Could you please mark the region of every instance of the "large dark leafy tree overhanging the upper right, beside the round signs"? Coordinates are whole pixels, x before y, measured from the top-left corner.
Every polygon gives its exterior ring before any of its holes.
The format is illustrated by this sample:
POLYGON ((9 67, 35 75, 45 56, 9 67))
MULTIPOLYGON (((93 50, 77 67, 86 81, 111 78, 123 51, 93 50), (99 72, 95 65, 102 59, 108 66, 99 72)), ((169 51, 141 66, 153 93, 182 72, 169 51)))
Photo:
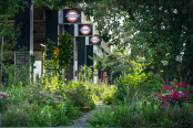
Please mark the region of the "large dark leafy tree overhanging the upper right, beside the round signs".
MULTIPOLYGON (((126 49, 133 58, 144 56, 165 79, 193 83, 192 0, 35 0, 54 9, 82 8, 98 22, 105 42, 126 49), (177 55, 183 61, 176 61, 177 55), (163 65, 167 61, 167 65, 163 65), (177 68, 177 70, 176 70, 177 68), (161 72, 163 71, 163 72, 161 72)), ((149 71, 149 70, 146 70, 149 71)))

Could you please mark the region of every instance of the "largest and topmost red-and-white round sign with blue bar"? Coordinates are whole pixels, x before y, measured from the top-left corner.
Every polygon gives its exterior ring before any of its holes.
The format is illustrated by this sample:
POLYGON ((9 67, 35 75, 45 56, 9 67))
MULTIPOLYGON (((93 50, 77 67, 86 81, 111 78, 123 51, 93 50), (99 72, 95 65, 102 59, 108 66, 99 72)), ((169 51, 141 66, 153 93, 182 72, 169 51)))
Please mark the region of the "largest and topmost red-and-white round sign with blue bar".
POLYGON ((77 13, 75 10, 70 10, 67 12, 65 18, 69 22, 75 22, 79 18, 79 14, 77 13))

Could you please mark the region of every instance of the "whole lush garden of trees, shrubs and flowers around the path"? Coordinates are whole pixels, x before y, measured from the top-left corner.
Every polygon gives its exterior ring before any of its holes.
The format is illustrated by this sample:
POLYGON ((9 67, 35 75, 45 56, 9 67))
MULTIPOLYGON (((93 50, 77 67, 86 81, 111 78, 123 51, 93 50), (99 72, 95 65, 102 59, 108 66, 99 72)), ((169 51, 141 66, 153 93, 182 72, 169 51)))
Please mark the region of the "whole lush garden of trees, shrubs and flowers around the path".
MULTIPOLYGON (((8 1, 6 7, 0 1, 4 53, 16 44, 20 31, 10 31, 7 19, 22 9, 21 0, 8 1)), ((63 77, 68 75, 64 71, 73 42, 67 32, 58 36, 57 49, 48 40, 44 75, 38 82, 29 78, 27 67, 31 64, 19 70, 3 63, 6 54, 1 54, 0 64, 9 78, 0 86, 0 127, 72 126, 92 110, 88 127, 193 126, 193 2, 34 0, 33 4, 54 10, 80 7, 98 23, 101 39, 113 50, 102 57, 94 56, 96 64, 92 67, 84 65, 78 82, 63 77), (108 84, 93 84, 92 71, 108 71, 108 84), (108 107, 99 109, 95 102, 108 107)))

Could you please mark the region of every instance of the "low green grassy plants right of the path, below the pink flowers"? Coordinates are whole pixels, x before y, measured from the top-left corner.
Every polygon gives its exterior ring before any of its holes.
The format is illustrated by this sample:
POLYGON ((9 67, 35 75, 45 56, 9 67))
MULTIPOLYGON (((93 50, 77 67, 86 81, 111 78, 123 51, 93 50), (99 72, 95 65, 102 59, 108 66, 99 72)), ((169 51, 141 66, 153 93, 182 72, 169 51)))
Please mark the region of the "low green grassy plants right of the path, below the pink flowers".
POLYGON ((99 110, 88 120, 90 127, 190 127, 192 105, 159 109, 159 103, 135 98, 130 105, 99 110))

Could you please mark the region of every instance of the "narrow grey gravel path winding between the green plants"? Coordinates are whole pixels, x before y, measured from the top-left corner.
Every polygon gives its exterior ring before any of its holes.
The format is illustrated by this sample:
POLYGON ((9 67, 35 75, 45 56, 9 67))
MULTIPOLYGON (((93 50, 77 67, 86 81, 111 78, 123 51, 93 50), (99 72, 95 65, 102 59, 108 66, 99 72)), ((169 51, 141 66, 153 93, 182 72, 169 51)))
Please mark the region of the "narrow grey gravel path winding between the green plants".
POLYGON ((81 118, 73 120, 74 122, 73 125, 63 128, 87 128, 88 127, 87 120, 91 117, 91 115, 96 110, 106 108, 106 105, 104 105, 102 102, 95 102, 95 105, 96 105, 95 110, 85 113, 81 118))

